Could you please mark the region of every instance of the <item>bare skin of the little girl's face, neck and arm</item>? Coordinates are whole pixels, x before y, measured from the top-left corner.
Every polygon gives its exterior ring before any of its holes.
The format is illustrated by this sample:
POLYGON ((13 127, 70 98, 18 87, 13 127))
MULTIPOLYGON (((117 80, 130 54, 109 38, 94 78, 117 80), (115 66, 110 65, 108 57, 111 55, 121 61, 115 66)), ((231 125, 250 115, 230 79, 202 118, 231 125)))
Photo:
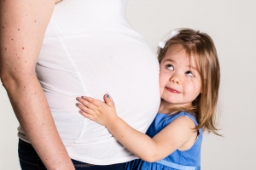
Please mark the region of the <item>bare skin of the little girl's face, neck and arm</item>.
MULTIPOLYGON (((192 57, 193 58, 193 57, 192 57)), ((170 48, 160 63, 160 113, 174 107, 191 105, 201 93, 201 78, 193 59, 181 46, 170 48)), ((117 116, 113 100, 105 95, 105 103, 90 97, 77 98, 80 114, 108 128, 114 138, 144 161, 158 161, 175 150, 188 150, 197 137, 195 123, 182 116, 167 125, 153 139, 138 132, 117 116)))

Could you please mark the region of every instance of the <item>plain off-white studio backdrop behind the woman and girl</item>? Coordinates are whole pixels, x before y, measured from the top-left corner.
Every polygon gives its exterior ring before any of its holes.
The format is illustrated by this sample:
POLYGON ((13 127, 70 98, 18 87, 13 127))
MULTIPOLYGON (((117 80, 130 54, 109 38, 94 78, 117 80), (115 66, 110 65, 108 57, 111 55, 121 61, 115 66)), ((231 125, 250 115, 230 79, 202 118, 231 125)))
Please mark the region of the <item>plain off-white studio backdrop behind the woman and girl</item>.
MULTIPOLYGON (((189 27, 212 37, 221 66, 218 127, 224 137, 205 133, 201 169, 256 169, 256 1, 130 0, 127 17, 154 49, 174 28, 189 27)), ((20 169, 17 127, 1 86, 0 169, 20 169)))

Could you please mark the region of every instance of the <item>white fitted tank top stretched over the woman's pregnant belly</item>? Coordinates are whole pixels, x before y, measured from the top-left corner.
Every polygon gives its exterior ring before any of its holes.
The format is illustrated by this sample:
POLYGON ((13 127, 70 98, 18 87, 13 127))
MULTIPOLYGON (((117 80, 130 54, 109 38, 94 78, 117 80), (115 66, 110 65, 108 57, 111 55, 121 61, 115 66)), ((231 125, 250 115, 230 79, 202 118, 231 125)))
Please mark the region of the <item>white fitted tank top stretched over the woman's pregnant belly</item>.
MULTIPOLYGON (((79 114, 78 96, 110 94, 118 115, 145 133, 160 105, 154 51, 126 19, 128 0, 63 0, 55 5, 36 67, 71 158, 108 165, 137 157, 106 127, 79 114)), ((21 127, 19 137, 27 142, 21 127)), ((125 132, 124 132, 125 133, 125 132)))

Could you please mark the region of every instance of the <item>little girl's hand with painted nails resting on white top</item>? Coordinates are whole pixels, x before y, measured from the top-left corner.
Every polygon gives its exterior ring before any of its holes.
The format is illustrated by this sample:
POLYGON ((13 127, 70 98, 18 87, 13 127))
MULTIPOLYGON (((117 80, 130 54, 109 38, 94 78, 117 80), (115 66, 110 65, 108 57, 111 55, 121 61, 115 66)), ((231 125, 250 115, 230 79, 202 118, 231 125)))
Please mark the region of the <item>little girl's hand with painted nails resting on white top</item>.
POLYGON ((104 102, 93 99, 90 97, 77 98, 80 103, 76 106, 79 107, 79 113, 86 118, 97 122, 105 127, 109 127, 119 117, 116 114, 113 100, 108 94, 104 95, 104 102))

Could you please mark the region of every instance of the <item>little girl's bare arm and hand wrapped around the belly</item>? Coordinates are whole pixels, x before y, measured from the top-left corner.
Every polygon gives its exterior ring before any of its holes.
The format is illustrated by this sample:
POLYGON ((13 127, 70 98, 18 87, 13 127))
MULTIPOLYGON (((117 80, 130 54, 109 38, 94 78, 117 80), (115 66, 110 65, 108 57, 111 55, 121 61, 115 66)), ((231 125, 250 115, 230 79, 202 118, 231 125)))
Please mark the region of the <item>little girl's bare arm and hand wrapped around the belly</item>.
POLYGON ((144 161, 158 161, 174 150, 183 150, 190 139, 196 138, 195 123, 183 116, 166 126, 153 139, 130 127, 115 112, 112 99, 104 96, 106 103, 89 97, 78 98, 80 114, 108 128, 121 144, 144 161))

